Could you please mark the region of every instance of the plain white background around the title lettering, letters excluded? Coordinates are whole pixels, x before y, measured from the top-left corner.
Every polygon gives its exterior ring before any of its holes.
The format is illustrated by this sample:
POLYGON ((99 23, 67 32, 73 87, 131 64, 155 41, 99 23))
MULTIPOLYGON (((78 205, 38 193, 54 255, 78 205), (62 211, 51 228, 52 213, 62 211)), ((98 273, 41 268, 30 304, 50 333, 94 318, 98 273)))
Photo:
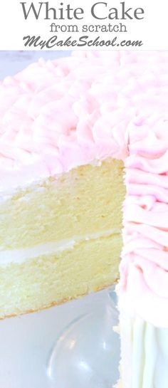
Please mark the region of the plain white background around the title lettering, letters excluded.
MULTIPOLYGON (((26 1, 26 0, 25 0, 26 1)), ((88 24, 102 24, 105 23, 119 23, 118 21, 97 21, 93 18, 93 16, 90 13, 90 8, 95 2, 98 0, 62 0, 64 4, 64 8, 67 4, 70 4, 70 6, 73 6, 73 8, 82 7, 85 10, 85 19, 82 21, 76 21, 73 22, 75 24, 78 24, 78 26, 81 28, 81 26, 85 23, 88 24)), ((105 0, 104 0, 105 1, 105 0)), ((26 3, 28 5, 28 8, 31 4, 31 0, 27 0, 26 3)), ((110 9, 112 7, 117 7, 120 9, 120 0, 106 0, 107 2, 107 9, 110 9)), ((55 7, 58 9, 60 7, 61 1, 56 0, 49 0, 50 6, 55 7)), ((35 6, 39 6, 38 0, 33 0, 33 4, 35 6)), ((119 40, 122 39, 131 39, 131 40, 142 40, 143 46, 140 49, 156 49, 156 50, 162 50, 162 49, 168 49, 168 1, 167 0, 125 0, 125 6, 126 7, 132 7, 132 8, 143 8, 145 9, 145 19, 141 21, 137 20, 128 20, 128 21, 122 21, 122 23, 126 24, 127 30, 129 32, 127 33, 117 33, 117 36, 119 40)), ((102 5, 102 13, 105 11, 105 7, 102 5)), ((100 7, 99 7, 100 9, 100 7)), ((100 12, 101 14, 101 12, 100 12)), ((108 12, 107 12, 108 14, 108 12)), ((28 19, 25 20, 23 17, 23 10, 20 4, 19 0, 5 0, 1 1, 1 9, 0 9, 0 50, 39 50, 39 47, 34 48, 25 48, 23 44, 23 36, 27 35, 35 35, 35 36, 41 36, 42 39, 46 40, 48 38, 51 38, 51 36, 56 35, 56 33, 50 33, 50 24, 53 20, 43 20, 43 17, 41 19, 38 19, 38 21, 34 18, 33 13, 30 14, 31 16, 28 16, 28 19)), ((42 14, 41 14, 42 16, 42 14)), ((72 24, 72 21, 68 21, 67 19, 64 21, 55 21, 56 24, 64 23, 64 24, 72 24)), ((83 36, 86 33, 59 33, 59 40, 68 38, 68 36, 72 35, 73 39, 78 39, 79 36, 83 36)), ((58 34, 57 34, 58 35, 58 34)), ((102 39, 110 39, 114 38, 116 36, 116 33, 90 33, 90 38, 94 39, 98 35, 100 35, 100 38, 102 39)), ((104 47, 103 47, 104 48, 104 47)), ((82 49, 103 49, 101 47, 90 47, 88 48, 85 46, 82 49)), ((54 47, 53 50, 70 50, 71 47, 54 47)), ((79 50, 78 47, 74 47, 73 49, 79 50)), ((80 48, 81 49, 81 48, 80 48)), ((105 47, 104 49, 116 49, 110 47, 105 47)), ((122 48, 121 48, 122 49, 122 48)), ((127 50, 132 49, 132 47, 124 48, 127 50)), ((135 49, 135 48, 133 48, 135 49)))

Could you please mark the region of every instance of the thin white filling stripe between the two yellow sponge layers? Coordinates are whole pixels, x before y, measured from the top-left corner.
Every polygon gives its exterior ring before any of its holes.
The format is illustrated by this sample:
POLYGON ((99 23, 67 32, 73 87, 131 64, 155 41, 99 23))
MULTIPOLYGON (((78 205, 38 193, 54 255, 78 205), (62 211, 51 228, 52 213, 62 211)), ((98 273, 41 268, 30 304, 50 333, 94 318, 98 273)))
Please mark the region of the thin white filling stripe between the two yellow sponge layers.
POLYGON ((23 248, 1 251, 0 250, 0 264, 9 263, 23 263, 26 260, 36 258, 38 256, 45 256, 56 252, 66 251, 72 249, 75 243, 80 241, 95 240, 96 238, 110 236, 111 234, 120 234, 120 229, 110 229, 109 231, 103 231, 95 234, 85 236, 74 236, 71 240, 61 240, 57 242, 50 242, 42 245, 33 246, 33 248, 23 248))

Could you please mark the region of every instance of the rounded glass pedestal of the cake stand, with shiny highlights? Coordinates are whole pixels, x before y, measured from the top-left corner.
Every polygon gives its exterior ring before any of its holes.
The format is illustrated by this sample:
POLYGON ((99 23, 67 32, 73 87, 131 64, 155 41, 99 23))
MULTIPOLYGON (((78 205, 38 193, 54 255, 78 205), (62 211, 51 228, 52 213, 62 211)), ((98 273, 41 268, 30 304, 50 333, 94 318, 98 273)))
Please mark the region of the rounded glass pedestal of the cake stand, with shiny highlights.
POLYGON ((117 379, 119 340, 112 326, 117 310, 109 295, 75 318, 56 340, 48 360, 52 388, 112 388, 117 379))

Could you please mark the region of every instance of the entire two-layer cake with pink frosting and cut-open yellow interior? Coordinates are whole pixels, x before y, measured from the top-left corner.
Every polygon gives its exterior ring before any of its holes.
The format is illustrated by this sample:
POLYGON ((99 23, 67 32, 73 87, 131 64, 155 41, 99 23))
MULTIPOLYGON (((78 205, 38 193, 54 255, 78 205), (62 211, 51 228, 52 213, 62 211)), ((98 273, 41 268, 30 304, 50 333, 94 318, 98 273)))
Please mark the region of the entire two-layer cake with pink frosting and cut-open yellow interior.
POLYGON ((1 318, 115 283, 121 256, 123 388, 167 388, 167 65, 90 51, 1 83, 1 318))

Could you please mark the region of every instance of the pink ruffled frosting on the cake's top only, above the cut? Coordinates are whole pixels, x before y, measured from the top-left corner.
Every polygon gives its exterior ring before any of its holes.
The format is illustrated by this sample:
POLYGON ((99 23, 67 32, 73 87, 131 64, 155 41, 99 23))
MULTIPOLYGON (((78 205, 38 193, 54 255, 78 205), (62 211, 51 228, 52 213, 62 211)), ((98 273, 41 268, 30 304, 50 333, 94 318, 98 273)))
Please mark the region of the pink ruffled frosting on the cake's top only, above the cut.
POLYGON ((159 115, 162 120, 167 61, 167 52, 84 51, 53 62, 41 59, 5 78, 0 192, 94 159, 125 159, 132 120, 149 113, 149 127, 159 115), (153 112, 156 105, 159 115, 153 112))

